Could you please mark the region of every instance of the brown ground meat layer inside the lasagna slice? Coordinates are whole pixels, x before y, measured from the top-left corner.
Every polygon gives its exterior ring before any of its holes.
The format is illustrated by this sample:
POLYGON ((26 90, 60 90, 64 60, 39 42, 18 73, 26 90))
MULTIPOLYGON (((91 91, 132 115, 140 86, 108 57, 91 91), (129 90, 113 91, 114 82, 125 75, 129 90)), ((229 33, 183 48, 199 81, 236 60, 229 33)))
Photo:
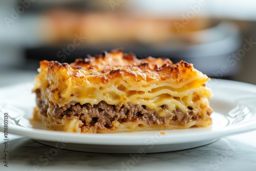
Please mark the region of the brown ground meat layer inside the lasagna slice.
MULTIPOLYGON (((41 114, 46 115, 48 108, 47 103, 40 100, 40 92, 37 94, 37 106, 39 107, 41 114)), ((65 106, 56 106, 51 113, 51 117, 74 117, 77 116, 79 120, 84 123, 84 126, 96 126, 98 129, 104 129, 112 127, 113 121, 119 121, 120 123, 126 121, 139 121, 142 120, 149 124, 182 124, 185 125, 191 120, 197 120, 200 118, 198 114, 194 114, 192 110, 188 113, 183 113, 181 110, 176 109, 172 112, 168 111, 167 105, 162 105, 161 110, 165 112, 164 117, 160 117, 156 114, 155 110, 148 109, 145 105, 132 104, 131 102, 122 105, 111 105, 105 101, 100 101, 98 104, 80 104, 70 102, 65 106)))

